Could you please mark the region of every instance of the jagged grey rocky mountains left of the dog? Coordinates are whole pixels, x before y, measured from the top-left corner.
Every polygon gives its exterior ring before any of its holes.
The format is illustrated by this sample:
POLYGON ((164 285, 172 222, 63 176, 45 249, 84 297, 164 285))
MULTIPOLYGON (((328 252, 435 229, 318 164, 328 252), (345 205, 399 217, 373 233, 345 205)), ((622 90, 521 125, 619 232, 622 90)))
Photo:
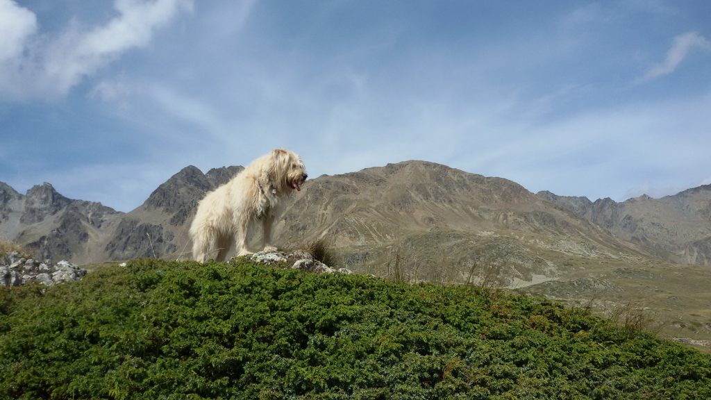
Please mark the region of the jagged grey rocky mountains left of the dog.
POLYGON ((188 240, 186 225, 198 201, 241 170, 222 167, 203 174, 186 167, 127 214, 68 199, 48 183, 22 195, 0 182, 0 237, 33 249, 36 258, 78 264, 173 257, 188 240))

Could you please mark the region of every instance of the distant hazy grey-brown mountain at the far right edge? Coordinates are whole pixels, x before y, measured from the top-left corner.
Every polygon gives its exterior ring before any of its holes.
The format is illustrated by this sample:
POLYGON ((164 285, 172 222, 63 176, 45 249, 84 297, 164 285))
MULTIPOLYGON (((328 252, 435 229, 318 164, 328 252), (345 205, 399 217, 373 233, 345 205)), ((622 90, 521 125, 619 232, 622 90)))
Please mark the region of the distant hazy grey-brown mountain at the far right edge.
POLYGON ((538 196, 662 258, 711 265, 711 185, 661 199, 639 196, 621 203, 557 196, 550 191, 538 196))

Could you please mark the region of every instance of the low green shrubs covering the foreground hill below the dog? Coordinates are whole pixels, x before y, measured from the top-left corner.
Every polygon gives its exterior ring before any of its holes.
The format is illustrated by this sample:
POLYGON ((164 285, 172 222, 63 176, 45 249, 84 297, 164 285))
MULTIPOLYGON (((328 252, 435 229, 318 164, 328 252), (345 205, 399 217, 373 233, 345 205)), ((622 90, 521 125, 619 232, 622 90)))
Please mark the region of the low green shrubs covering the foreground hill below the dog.
POLYGON ((2 399, 709 399, 711 357, 579 309, 250 263, 3 290, 2 399))

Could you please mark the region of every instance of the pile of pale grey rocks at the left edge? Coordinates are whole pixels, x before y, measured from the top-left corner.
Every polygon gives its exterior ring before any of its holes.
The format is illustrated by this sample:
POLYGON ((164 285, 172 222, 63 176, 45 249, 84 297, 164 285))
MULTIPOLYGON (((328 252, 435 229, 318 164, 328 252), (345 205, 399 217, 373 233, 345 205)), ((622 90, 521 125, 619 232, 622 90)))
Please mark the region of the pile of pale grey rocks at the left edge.
POLYGON ((25 258, 16 251, 0 258, 0 286, 5 287, 28 282, 50 286, 80 280, 86 273, 85 269, 65 260, 54 265, 50 260, 42 263, 33 258, 25 258))

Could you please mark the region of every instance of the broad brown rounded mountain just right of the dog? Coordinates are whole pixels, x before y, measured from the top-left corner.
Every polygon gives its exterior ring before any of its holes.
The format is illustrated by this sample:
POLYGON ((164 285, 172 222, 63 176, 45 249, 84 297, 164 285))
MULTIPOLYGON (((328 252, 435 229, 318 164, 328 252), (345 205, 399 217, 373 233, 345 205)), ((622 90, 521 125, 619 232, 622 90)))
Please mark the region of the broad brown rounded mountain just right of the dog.
MULTIPOLYGON (((643 256, 631 243, 512 181, 416 161, 304 185, 279 223, 277 239, 293 246, 319 237, 341 250, 349 268, 385 265, 400 248, 421 263, 441 268, 444 260, 454 267, 447 271, 453 281, 490 267, 504 269, 505 283, 554 278, 583 258, 643 256)), ((436 271, 421 272, 419 278, 432 279, 436 271)))

